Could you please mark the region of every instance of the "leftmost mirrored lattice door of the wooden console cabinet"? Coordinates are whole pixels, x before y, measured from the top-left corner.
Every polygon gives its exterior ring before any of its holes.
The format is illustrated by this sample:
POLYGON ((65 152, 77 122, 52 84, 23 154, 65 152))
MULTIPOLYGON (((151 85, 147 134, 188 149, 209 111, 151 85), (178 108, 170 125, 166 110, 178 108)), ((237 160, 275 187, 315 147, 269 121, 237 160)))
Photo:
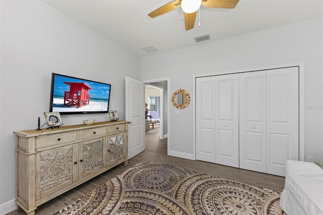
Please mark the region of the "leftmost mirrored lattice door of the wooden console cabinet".
POLYGON ((77 180, 77 145, 57 147, 36 154, 36 199, 46 196, 77 180))

